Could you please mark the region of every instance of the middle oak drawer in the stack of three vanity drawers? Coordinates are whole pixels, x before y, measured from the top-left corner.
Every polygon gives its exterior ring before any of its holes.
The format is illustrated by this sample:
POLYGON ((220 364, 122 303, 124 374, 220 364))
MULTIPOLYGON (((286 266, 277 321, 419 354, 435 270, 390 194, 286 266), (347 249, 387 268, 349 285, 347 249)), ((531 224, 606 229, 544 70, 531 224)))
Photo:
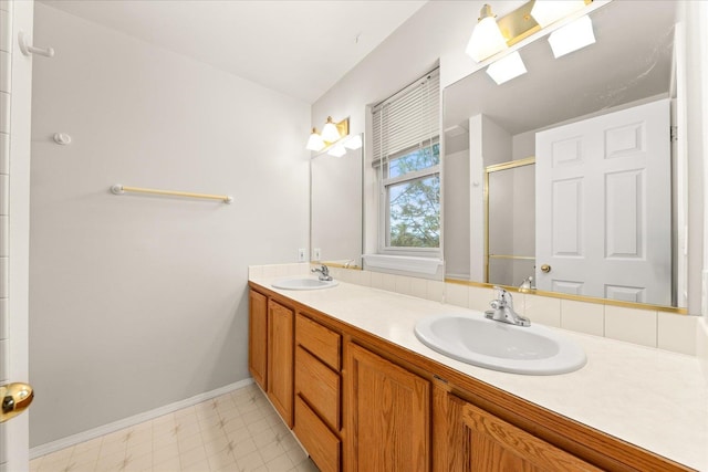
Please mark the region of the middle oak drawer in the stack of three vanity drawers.
POLYGON ((295 349, 295 392, 335 431, 340 424, 340 375, 298 346, 295 349))

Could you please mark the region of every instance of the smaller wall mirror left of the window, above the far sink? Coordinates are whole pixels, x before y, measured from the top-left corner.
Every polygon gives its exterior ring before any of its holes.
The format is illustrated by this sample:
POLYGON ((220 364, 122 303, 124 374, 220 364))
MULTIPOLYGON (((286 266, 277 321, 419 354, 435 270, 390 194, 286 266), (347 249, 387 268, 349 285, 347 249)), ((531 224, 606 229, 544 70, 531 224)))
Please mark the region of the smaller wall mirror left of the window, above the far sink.
POLYGON ((310 161, 310 259, 353 269, 362 266, 364 153, 343 149, 342 156, 323 151, 310 161))

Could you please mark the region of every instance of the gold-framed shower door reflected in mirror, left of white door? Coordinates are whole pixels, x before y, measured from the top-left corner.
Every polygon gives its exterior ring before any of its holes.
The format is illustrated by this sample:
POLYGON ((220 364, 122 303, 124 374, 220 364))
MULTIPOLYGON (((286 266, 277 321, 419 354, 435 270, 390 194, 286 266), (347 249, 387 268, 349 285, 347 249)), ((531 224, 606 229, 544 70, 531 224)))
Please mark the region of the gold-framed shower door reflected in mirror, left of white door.
POLYGON ((519 286, 535 264, 534 158, 486 168, 486 282, 519 286))

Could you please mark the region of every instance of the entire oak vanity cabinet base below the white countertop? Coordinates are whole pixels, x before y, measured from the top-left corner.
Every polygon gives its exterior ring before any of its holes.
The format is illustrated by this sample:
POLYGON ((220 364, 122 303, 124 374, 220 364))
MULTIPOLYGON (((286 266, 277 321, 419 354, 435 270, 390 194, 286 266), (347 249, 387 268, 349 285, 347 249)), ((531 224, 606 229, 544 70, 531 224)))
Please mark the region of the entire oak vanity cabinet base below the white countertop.
POLYGON ((323 472, 690 470, 254 287, 249 368, 323 472))

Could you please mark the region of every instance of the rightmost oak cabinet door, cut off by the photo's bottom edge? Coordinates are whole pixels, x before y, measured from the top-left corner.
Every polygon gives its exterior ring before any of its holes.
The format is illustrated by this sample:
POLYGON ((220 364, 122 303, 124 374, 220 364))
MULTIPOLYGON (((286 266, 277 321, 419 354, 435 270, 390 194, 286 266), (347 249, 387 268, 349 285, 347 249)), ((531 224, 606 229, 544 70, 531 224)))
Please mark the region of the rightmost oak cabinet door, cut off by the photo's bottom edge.
POLYGON ((500 418, 464 403, 456 470, 476 472, 600 471, 500 418))

